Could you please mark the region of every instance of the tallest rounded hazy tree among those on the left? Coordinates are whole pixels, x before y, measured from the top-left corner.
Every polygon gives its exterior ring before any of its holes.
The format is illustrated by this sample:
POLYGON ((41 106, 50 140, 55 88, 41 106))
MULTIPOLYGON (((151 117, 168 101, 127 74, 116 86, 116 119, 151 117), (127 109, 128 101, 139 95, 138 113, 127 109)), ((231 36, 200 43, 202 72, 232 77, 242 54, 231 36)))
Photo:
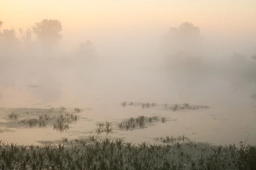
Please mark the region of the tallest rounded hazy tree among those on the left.
POLYGON ((35 23, 32 30, 37 35, 38 42, 46 50, 51 50, 52 45, 62 38, 62 26, 59 20, 44 19, 40 23, 35 23))

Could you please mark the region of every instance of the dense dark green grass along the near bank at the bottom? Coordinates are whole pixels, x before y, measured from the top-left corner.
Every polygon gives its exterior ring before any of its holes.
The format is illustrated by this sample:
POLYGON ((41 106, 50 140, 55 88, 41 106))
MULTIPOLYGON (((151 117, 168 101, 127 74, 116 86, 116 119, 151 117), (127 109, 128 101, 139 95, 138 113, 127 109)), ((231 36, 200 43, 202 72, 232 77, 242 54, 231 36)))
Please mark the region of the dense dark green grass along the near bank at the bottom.
MULTIPOLYGON (((182 139, 182 137, 180 137, 182 139)), ((193 142, 175 144, 125 143, 122 139, 68 141, 57 145, 0 144, 1 170, 255 170, 256 147, 241 142, 210 149, 193 142), (66 146, 64 146, 66 145, 66 146), (200 149, 201 155, 183 150, 200 149)), ((183 140, 184 141, 184 140, 183 140)), ((188 150, 187 150, 188 151, 188 150)))

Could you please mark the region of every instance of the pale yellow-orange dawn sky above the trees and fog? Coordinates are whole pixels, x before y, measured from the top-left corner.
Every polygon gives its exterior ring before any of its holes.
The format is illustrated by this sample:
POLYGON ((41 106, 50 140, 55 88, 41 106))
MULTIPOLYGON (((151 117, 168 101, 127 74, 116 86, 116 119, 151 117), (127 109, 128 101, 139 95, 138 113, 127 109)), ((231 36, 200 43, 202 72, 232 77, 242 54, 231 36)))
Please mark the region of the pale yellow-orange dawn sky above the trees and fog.
POLYGON ((19 27, 33 26, 43 19, 58 19, 64 40, 79 39, 81 32, 83 37, 95 39, 134 30, 138 34, 160 34, 186 21, 212 38, 217 34, 234 40, 256 36, 256 0, 0 0, 0 3, 3 28, 18 31, 19 27))

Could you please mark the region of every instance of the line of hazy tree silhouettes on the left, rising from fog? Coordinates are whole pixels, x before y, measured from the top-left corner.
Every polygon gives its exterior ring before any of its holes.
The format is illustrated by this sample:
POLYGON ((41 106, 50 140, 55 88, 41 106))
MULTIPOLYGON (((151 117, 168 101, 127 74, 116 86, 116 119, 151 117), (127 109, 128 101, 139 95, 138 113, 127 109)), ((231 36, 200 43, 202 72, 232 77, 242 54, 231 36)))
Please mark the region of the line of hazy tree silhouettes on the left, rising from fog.
MULTIPOLYGON (((2 26, 3 21, 0 21, 0 28, 2 26)), ((33 50, 38 51, 38 47, 40 47, 41 54, 50 54, 53 50, 53 45, 61 40, 61 32, 61 21, 48 19, 35 23, 34 26, 26 29, 19 28, 21 40, 16 37, 14 29, 0 30, 0 55, 16 56, 21 51, 26 53, 33 50), (32 41, 32 34, 35 34, 36 42, 32 41)), ((90 40, 87 40, 86 43, 81 43, 79 52, 81 55, 91 55, 93 53, 93 43, 90 40)))

